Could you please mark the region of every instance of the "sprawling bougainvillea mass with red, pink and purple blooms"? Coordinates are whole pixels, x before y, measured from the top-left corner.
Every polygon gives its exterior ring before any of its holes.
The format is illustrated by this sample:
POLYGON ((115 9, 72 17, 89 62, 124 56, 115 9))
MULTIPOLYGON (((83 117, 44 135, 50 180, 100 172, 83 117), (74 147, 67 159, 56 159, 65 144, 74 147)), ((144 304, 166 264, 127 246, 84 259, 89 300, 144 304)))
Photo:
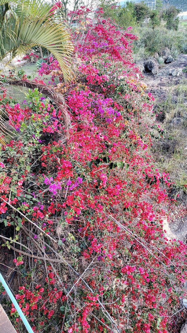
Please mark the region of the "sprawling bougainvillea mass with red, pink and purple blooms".
MULTIPOLYGON (((185 211, 150 155, 163 131, 132 62, 136 37, 98 13, 73 39, 75 79, 65 84, 57 67, 54 85, 69 128, 37 89, 22 105, 2 90, 14 136, 1 146, 1 238, 16 251, 16 299, 34 332, 176 332, 186 245, 163 221, 185 211)), ((44 65, 54 77, 53 60, 44 65)))

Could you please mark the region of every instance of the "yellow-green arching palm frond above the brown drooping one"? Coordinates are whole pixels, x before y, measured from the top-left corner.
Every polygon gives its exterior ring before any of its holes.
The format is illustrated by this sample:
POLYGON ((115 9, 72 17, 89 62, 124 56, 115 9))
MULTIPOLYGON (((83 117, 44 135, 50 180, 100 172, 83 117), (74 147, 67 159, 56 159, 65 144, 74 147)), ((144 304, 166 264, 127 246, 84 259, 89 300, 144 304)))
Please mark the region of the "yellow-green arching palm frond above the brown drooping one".
POLYGON ((0 0, 0 62, 8 64, 33 46, 46 48, 70 80, 73 44, 69 31, 43 0, 0 0))

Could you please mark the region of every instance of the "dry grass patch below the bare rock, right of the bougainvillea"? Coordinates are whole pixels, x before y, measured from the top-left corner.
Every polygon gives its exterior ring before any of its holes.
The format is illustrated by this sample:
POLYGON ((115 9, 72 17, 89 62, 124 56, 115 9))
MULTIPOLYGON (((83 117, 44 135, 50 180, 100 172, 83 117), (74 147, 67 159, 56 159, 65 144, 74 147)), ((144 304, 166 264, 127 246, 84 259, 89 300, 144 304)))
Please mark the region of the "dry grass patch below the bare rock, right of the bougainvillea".
POLYGON ((153 142, 153 153, 160 171, 174 182, 171 193, 187 203, 187 80, 171 88, 166 100, 156 101, 157 121, 165 137, 153 142))

